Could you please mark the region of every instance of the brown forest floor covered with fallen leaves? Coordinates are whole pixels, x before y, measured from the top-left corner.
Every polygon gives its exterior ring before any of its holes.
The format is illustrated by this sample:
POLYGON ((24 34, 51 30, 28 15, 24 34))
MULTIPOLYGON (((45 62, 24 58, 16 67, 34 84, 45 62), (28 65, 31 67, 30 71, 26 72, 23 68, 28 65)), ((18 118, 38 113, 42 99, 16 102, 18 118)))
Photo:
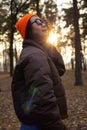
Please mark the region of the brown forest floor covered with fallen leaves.
MULTIPOLYGON (((74 71, 66 71, 62 82, 66 91, 69 117, 64 120, 69 130, 87 130, 87 71, 82 72, 83 86, 74 86, 74 71)), ((0 130, 19 130, 11 97, 11 78, 0 74, 0 130)))

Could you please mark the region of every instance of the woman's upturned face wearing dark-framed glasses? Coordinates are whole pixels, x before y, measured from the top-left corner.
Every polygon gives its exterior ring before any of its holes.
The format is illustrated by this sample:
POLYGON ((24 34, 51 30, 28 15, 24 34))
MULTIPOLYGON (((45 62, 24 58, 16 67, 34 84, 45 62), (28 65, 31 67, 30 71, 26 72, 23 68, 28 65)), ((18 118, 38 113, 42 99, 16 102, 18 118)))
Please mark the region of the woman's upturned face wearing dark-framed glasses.
POLYGON ((32 33, 36 36, 40 36, 41 38, 45 39, 48 35, 48 27, 46 22, 37 16, 33 16, 30 21, 32 33))

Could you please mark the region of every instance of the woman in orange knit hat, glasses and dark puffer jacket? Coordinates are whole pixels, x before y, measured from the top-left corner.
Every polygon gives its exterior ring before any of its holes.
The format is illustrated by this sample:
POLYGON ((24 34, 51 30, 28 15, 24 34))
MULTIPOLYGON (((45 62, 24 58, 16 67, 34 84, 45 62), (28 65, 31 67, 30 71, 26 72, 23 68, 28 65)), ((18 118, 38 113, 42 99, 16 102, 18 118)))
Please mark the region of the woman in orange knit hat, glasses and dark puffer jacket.
POLYGON ((65 91, 44 48, 47 23, 37 15, 27 14, 16 23, 16 28, 24 39, 12 80, 13 104, 21 130, 67 130, 58 105, 58 98, 61 106, 65 102, 65 91))

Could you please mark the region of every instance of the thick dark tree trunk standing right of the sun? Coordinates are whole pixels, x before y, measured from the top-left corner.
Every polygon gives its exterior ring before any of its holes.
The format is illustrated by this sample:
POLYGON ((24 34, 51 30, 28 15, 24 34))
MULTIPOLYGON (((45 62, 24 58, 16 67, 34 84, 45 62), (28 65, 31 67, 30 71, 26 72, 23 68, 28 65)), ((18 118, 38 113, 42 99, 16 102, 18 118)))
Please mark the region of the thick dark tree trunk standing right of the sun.
POLYGON ((79 10, 77 7, 77 0, 73 0, 73 16, 74 16, 74 29, 75 29, 75 85, 83 85, 81 73, 81 41, 79 32, 79 10))

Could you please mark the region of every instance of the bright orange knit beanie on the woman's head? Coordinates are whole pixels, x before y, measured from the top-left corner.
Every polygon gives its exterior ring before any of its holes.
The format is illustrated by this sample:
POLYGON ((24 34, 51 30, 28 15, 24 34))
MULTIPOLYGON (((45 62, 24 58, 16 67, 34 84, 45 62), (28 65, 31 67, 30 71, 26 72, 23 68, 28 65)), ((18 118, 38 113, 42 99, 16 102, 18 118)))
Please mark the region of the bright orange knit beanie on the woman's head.
POLYGON ((37 16, 37 15, 36 14, 26 14, 21 19, 19 19, 15 25, 15 27, 17 28, 17 30, 19 31, 19 33, 21 34, 23 39, 25 38, 25 31, 26 31, 27 23, 33 16, 37 16))

